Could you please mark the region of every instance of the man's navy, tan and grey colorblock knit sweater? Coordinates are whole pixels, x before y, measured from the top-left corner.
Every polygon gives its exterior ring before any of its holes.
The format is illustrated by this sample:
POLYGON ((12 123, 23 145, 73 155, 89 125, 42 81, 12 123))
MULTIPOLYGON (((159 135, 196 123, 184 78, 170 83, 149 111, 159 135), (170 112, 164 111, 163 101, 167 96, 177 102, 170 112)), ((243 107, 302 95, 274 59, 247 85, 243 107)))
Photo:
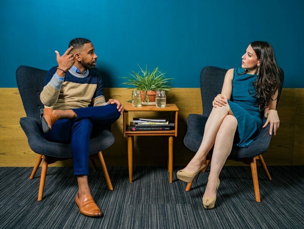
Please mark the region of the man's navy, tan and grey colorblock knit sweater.
POLYGON ((94 70, 81 75, 70 69, 60 80, 55 76, 57 67, 51 68, 45 77, 40 100, 45 108, 72 109, 107 105, 101 76, 94 70))

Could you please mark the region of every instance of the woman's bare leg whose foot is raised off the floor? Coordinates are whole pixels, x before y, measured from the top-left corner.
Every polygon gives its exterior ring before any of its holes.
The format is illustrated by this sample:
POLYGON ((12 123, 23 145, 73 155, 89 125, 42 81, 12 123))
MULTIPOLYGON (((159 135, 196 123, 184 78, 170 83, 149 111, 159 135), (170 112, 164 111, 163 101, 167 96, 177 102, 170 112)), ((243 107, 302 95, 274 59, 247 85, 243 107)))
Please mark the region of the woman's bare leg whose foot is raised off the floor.
POLYGON ((190 172, 190 173, 195 172, 206 161, 206 156, 210 151, 210 149, 212 148, 212 146, 214 145, 217 132, 219 131, 223 119, 228 114, 233 115, 230 106, 228 104, 226 104, 226 106, 222 106, 222 107, 218 106, 216 108, 214 107, 212 108, 212 111, 206 122, 202 143, 199 147, 199 150, 192 158, 192 160, 184 168, 186 172, 190 172))

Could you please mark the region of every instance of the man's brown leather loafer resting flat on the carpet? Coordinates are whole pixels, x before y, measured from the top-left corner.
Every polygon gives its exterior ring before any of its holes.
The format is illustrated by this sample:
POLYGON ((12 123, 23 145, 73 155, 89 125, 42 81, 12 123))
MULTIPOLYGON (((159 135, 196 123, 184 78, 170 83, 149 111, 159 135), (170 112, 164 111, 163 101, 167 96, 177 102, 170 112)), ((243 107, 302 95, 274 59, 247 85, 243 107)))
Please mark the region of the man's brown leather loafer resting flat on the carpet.
POLYGON ((80 202, 77 193, 75 202, 81 214, 84 214, 85 216, 102 216, 101 210, 99 210, 91 195, 85 195, 85 200, 80 202))

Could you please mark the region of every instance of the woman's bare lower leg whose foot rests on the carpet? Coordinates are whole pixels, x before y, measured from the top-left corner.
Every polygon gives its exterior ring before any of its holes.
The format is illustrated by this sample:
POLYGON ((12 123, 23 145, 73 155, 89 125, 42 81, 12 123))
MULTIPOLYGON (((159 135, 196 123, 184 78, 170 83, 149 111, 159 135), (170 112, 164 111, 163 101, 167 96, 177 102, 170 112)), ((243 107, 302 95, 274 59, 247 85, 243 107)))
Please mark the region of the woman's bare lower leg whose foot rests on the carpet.
POLYGON ((237 119, 233 115, 226 115, 216 134, 208 184, 204 193, 205 197, 214 197, 216 195, 219 173, 231 152, 236 130, 237 119))

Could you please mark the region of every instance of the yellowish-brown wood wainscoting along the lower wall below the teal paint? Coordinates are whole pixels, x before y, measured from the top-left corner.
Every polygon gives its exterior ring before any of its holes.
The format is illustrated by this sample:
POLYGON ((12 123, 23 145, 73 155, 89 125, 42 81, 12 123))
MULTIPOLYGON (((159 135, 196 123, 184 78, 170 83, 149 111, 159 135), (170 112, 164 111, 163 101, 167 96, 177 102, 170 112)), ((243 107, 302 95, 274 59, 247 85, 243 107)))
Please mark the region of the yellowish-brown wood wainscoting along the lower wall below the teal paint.
MULTIPOLYGON (((104 92, 106 99, 119 99, 123 104, 130 100, 132 93, 125 88, 104 88, 104 92)), ((178 137, 174 138, 174 165, 186 165, 194 155, 183 142, 187 116, 190 113, 202 114, 200 89, 173 88, 166 95, 167 103, 175 103, 179 108, 178 137)), ((304 165, 303 98, 304 88, 283 88, 278 105, 280 128, 277 135, 272 137, 268 151, 263 154, 266 165, 304 165)), ((17 88, 0 88, 0 107, 0 166, 34 166, 38 154, 29 148, 26 135, 19 125, 19 119, 26 115, 17 88)), ((130 113, 130 118, 132 115, 130 113)), ((157 113, 154 115, 157 116, 157 113)), ((140 116, 140 113, 136 113, 136 116, 140 116)), ((112 132, 115 142, 102 152, 106 165, 127 166, 127 139, 123 137, 122 117, 112 125, 112 132)), ((167 165, 166 137, 136 137, 134 150, 134 165, 167 165)), ((51 166, 71 165, 71 160, 67 160, 51 166)), ((243 164, 228 160, 226 165, 243 164)))

